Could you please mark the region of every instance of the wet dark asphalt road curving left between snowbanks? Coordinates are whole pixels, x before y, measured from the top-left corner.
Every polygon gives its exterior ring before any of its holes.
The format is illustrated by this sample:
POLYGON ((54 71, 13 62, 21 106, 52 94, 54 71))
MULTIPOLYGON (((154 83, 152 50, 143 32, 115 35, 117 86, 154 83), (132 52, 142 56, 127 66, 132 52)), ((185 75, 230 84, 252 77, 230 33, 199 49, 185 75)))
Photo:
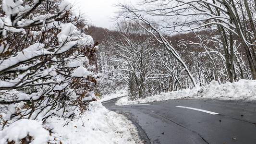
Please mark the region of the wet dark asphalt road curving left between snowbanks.
POLYGON ((132 120, 146 144, 256 144, 256 102, 181 99, 115 106, 116 100, 102 104, 132 120))

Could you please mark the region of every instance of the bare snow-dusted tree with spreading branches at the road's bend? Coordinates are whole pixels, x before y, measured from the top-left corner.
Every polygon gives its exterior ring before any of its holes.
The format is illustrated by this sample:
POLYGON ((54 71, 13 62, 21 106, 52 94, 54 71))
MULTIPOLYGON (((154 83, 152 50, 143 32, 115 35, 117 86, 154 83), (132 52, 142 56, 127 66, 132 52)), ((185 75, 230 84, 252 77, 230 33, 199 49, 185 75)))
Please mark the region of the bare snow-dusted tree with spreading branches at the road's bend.
POLYGON ((109 44, 114 51, 110 60, 115 62, 113 71, 128 86, 131 99, 168 89, 163 81, 168 79, 166 69, 158 58, 160 45, 136 23, 120 22, 117 29, 118 33, 110 34, 109 44))

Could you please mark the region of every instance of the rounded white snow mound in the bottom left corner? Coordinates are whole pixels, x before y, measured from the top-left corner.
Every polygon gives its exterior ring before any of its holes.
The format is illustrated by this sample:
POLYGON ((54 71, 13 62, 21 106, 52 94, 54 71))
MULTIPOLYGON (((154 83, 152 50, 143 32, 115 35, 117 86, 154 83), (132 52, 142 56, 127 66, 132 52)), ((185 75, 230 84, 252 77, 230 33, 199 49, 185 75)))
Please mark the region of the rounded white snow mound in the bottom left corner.
POLYGON ((7 141, 19 144, 19 141, 28 135, 32 137, 30 144, 47 144, 50 138, 49 132, 42 127, 41 122, 23 119, 0 131, 0 144, 9 144, 7 141))

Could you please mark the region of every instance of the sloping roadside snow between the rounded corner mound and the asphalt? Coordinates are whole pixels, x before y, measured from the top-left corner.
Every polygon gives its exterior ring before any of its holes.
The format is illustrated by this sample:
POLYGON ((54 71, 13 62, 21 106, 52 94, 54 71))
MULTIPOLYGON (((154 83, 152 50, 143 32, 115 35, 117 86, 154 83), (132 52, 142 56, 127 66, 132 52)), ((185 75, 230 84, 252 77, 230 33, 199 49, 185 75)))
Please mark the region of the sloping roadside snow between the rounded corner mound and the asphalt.
POLYGON ((51 130, 50 143, 62 144, 135 144, 139 137, 131 121, 109 111, 100 102, 75 120, 52 117, 46 121, 51 130))

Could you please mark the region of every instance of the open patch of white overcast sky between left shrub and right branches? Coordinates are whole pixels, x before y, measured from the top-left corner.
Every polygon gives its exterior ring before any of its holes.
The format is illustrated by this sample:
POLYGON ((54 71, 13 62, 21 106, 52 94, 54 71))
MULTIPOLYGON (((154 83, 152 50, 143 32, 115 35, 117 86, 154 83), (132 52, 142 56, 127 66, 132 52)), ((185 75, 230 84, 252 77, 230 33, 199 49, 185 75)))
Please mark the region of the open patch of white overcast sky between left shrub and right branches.
MULTIPOLYGON (((114 4, 122 2, 124 0, 71 0, 75 3, 75 8, 79 8, 88 17, 89 23, 105 27, 112 28, 114 22, 110 17, 115 16, 114 12, 118 11, 114 4)), ((129 1, 129 0, 125 0, 129 1)))

